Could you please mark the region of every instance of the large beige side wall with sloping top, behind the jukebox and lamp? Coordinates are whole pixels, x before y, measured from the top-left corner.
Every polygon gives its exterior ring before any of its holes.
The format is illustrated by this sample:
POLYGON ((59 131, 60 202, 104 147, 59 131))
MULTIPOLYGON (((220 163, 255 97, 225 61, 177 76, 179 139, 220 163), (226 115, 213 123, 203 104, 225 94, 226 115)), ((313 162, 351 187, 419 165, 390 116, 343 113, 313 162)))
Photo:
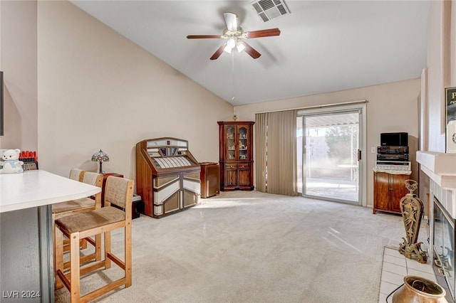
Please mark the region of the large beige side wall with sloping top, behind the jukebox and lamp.
POLYGON ((217 120, 232 106, 67 1, 38 1, 38 153, 42 169, 135 178, 135 144, 186 139, 218 161, 217 120))

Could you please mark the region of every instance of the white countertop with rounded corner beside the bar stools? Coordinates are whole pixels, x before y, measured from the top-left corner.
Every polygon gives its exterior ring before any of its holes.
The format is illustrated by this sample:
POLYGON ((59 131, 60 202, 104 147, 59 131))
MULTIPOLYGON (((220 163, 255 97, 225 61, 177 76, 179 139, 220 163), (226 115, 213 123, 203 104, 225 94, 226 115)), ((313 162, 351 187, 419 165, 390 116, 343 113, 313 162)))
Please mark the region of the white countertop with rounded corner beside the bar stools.
POLYGON ((41 169, 0 174, 0 213, 92 196, 101 188, 41 169))

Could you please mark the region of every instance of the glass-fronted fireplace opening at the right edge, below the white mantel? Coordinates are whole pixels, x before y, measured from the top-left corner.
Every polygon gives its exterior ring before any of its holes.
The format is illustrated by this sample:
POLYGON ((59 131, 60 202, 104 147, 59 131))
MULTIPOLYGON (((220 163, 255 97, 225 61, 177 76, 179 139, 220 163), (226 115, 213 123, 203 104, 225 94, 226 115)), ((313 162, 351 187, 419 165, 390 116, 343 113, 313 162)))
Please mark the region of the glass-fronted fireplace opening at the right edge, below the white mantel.
POLYGON ((455 219, 437 198, 433 198, 432 267, 437 283, 447 292, 447 301, 455 301, 455 219))

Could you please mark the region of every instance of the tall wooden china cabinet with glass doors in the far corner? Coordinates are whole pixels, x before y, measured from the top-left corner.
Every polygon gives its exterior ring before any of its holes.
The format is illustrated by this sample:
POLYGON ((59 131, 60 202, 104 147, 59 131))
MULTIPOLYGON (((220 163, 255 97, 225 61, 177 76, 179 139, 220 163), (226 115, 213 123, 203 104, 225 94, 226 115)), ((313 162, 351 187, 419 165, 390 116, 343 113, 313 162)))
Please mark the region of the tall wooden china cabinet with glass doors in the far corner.
POLYGON ((253 129, 251 121, 219 121, 220 190, 252 191, 253 129))

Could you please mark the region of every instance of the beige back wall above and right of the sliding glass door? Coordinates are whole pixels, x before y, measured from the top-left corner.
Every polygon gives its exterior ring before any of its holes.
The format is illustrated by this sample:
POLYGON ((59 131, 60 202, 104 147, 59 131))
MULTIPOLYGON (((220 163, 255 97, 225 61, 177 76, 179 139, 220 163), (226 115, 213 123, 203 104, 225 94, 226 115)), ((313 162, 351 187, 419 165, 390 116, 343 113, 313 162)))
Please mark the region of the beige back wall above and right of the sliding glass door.
POLYGON ((236 107, 241 120, 255 120, 255 113, 274 110, 286 110, 329 105, 335 103, 367 100, 367 201, 373 206, 373 172, 376 155, 371 154, 371 147, 380 145, 382 132, 408 132, 410 156, 413 160, 412 178, 418 178, 418 166, 415 164, 415 151, 418 149, 418 95, 420 79, 362 87, 354 90, 331 92, 320 95, 297 97, 253 105, 236 107))

